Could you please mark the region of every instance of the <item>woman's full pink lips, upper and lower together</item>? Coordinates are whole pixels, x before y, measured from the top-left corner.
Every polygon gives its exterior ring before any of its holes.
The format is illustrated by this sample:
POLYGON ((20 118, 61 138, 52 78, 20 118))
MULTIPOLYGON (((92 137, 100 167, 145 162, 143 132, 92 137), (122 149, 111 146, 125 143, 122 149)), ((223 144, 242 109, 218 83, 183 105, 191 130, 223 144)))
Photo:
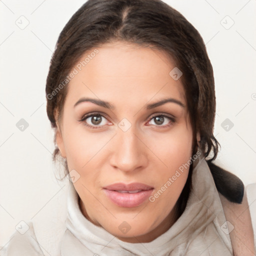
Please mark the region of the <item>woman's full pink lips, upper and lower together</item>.
POLYGON ((143 183, 115 183, 103 187, 111 202, 120 207, 136 207, 142 204, 152 193, 153 187, 143 183))

